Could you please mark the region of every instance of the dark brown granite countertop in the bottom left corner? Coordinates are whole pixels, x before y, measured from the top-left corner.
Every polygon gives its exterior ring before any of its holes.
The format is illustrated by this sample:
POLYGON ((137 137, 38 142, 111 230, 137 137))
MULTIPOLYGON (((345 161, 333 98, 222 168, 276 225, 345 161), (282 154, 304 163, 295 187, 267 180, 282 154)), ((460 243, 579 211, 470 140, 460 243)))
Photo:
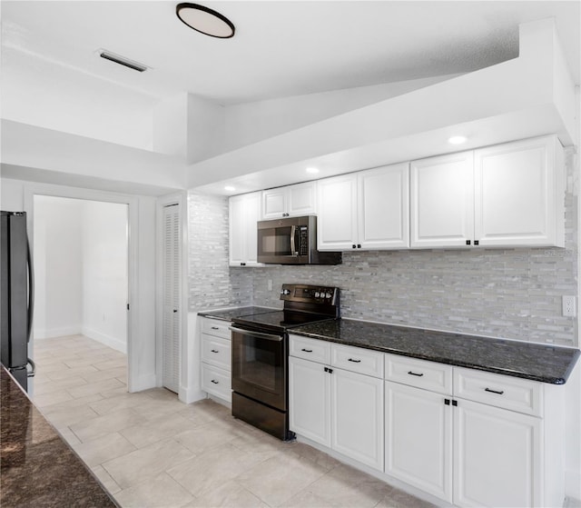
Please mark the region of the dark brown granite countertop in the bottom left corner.
POLYGON ((0 505, 118 506, 2 366, 0 374, 0 505))

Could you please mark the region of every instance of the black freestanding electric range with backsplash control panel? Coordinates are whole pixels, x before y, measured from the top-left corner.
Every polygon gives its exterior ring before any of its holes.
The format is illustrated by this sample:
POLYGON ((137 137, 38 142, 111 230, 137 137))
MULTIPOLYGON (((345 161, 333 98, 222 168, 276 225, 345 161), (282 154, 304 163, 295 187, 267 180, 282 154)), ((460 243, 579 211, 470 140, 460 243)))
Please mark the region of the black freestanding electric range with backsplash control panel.
POLYGON ((288 332, 336 319, 337 287, 282 284, 281 311, 232 319, 232 415, 282 440, 289 431, 288 332))

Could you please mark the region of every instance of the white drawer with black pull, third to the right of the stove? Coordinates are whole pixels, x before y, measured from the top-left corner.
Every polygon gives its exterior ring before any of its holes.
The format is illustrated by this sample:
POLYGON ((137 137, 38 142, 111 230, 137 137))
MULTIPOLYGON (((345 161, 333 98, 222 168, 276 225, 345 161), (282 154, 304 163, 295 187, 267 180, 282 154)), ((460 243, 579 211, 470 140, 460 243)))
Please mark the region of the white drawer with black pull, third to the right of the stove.
POLYGON ((452 394, 452 367, 447 364, 386 354, 385 378, 432 392, 452 394))

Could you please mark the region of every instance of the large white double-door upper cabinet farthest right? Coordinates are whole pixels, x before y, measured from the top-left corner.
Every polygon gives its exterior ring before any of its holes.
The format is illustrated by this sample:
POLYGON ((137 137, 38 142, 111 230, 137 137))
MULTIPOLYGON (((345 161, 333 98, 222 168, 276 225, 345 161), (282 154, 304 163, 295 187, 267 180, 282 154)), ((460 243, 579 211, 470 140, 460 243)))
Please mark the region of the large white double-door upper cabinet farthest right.
POLYGON ((564 245, 556 135, 411 163, 411 246, 564 245))

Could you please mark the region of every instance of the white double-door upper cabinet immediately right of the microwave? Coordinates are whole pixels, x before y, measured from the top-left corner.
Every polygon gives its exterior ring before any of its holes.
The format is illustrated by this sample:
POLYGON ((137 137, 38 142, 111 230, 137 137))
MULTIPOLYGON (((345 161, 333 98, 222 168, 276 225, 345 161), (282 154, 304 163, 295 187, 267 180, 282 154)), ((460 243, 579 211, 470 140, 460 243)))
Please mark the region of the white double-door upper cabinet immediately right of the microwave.
POLYGON ((320 251, 409 247, 409 164, 319 181, 320 251))

